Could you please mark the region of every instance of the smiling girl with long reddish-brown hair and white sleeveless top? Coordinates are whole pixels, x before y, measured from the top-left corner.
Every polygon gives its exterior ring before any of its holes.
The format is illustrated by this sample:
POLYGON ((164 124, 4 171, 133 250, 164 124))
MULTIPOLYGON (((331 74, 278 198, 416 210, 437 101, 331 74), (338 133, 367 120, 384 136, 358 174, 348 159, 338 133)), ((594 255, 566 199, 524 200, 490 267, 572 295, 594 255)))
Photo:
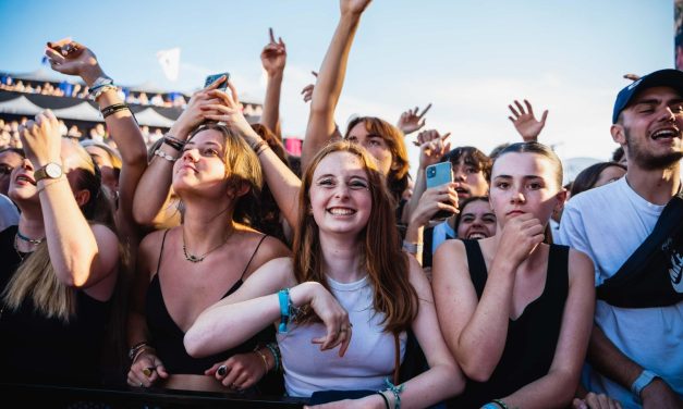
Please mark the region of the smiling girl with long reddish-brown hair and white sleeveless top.
POLYGON ((400 399, 410 408, 461 391, 463 377, 439 332, 429 283, 395 245, 393 200, 377 162, 357 144, 326 146, 304 174, 298 203, 294 259, 270 261, 203 312, 185 335, 187 351, 214 354, 275 323, 291 396, 383 391, 347 406, 393 407, 400 399), (408 329, 429 370, 387 389, 408 329))

